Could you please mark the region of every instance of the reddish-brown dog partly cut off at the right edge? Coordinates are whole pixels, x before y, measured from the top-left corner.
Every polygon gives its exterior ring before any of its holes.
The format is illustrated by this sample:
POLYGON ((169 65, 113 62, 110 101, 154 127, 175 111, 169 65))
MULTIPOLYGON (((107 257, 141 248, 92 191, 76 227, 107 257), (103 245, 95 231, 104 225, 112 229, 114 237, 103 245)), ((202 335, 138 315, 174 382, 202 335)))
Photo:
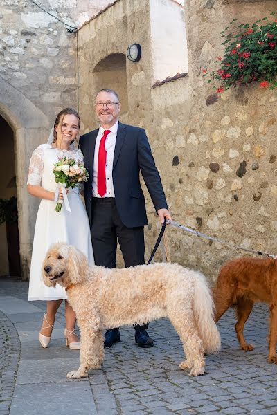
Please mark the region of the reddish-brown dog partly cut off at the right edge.
POLYGON ((266 302, 270 310, 270 333, 268 362, 277 363, 277 262, 276 259, 238 258, 226 262, 220 269, 216 287, 215 321, 228 310, 235 307, 237 322, 235 331, 240 346, 244 350, 253 350, 252 344, 244 339, 244 324, 255 302, 266 302))

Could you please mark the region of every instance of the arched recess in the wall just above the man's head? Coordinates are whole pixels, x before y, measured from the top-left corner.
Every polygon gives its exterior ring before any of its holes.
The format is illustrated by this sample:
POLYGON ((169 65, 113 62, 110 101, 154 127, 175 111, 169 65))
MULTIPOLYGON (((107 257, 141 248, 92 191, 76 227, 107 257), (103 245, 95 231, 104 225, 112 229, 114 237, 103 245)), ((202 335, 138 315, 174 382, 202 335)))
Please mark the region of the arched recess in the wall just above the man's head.
POLYGON ((92 71, 92 82, 95 87, 93 96, 102 88, 114 89, 121 102, 121 113, 128 111, 126 56, 123 53, 111 53, 101 59, 92 71))

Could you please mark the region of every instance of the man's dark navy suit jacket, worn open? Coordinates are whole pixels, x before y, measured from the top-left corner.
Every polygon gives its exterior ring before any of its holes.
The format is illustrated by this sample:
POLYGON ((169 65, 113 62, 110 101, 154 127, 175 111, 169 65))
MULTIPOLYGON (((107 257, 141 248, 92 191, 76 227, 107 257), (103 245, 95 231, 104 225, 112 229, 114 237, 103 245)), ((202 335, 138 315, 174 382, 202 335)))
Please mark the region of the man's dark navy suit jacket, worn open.
MULTIPOLYGON (((84 154, 84 165, 89 171, 89 180, 84 183, 84 200, 89 223, 92 222, 92 178, 94 149, 98 129, 80 137, 80 149, 84 154)), ((161 178, 154 163, 145 130, 118 123, 116 147, 114 150, 113 183, 116 208, 121 221, 127 228, 148 224, 145 201, 139 181, 139 172, 150 193, 154 208, 168 208, 161 178)))

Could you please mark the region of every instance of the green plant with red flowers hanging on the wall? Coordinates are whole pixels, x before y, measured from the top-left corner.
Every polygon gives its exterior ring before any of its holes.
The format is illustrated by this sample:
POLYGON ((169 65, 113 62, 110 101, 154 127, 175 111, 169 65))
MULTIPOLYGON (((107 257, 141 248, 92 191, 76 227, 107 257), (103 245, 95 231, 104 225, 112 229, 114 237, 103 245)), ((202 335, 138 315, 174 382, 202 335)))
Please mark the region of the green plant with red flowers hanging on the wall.
MULTIPOLYGON (((271 16, 277 12, 272 12, 271 16)), ((235 35, 227 33, 230 26, 237 19, 233 19, 229 26, 222 30, 225 37, 222 45, 225 47, 224 57, 217 57, 215 64, 220 64, 217 71, 209 73, 202 69, 204 76, 212 80, 220 80, 222 86, 217 92, 223 92, 230 86, 259 82, 265 88, 274 89, 277 86, 277 19, 267 21, 267 17, 258 19, 252 26, 240 24, 235 35)), ((215 86, 214 86, 215 87, 215 86)))

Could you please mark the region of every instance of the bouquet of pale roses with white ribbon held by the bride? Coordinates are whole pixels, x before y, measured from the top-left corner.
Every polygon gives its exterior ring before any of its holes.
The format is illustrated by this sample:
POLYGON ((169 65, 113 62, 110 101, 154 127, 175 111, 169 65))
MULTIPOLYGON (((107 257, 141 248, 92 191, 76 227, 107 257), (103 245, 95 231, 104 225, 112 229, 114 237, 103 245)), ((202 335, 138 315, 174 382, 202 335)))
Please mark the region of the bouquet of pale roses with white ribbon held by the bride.
MULTIPOLYGON (((79 183, 87 181, 89 173, 80 160, 76 161, 74 158, 66 157, 60 157, 58 159, 57 163, 54 164, 53 173, 56 183, 62 188, 66 210, 71 212, 65 189, 68 189, 69 187, 73 189, 79 183)), ((62 210, 63 201, 57 200, 57 195, 58 189, 55 192, 55 201, 57 201, 55 210, 60 212, 62 210)))

